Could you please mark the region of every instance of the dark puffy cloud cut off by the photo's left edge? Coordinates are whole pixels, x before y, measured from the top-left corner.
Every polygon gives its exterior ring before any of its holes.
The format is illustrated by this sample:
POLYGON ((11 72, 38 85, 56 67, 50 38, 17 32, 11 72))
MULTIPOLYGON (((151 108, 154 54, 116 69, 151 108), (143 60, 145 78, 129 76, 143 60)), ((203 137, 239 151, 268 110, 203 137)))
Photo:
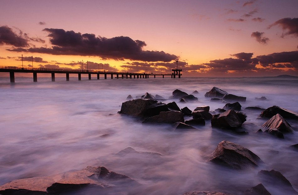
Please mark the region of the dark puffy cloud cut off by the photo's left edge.
POLYGON ((28 40, 22 31, 19 34, 13 32, 8 26, 0 26, 0 45, 13 45, 15 47, 28 47, 28 40))

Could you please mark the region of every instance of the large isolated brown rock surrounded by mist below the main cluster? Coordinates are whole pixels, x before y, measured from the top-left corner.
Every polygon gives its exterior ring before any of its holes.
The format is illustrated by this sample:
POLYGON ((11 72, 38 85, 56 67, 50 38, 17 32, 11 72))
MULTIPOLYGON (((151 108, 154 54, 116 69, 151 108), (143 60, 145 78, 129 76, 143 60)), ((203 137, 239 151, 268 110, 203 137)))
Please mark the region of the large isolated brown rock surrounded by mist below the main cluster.
POLYGON ((233 169, 258 166, 263 161, 252 151, 230 141, 221 141, 207 160, 233 169))

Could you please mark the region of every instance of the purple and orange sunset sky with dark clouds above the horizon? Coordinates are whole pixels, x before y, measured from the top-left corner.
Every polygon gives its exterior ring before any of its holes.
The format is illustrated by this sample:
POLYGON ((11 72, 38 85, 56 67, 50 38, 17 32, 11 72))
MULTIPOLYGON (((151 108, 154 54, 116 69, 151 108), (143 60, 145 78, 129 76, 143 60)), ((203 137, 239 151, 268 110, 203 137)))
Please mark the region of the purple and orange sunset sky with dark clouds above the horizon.
POLYGON ((0 66, 23 55, 34 68, 171 73, 178 61, 183 76, 298 76, 297 0, 0 5, 0 66))

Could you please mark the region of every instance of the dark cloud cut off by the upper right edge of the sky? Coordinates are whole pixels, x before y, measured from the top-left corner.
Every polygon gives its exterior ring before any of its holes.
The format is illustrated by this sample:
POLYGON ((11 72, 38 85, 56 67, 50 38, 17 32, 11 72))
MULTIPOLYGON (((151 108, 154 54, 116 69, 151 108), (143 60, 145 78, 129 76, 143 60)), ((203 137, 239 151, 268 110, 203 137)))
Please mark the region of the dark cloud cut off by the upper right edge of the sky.
POLYGON ((269 25, 268 29, 276 25, 279 25, 283 30, 286 31, 281 35, 281 37, 289 34, 298 36, 298 18, 282 18, 269 25))

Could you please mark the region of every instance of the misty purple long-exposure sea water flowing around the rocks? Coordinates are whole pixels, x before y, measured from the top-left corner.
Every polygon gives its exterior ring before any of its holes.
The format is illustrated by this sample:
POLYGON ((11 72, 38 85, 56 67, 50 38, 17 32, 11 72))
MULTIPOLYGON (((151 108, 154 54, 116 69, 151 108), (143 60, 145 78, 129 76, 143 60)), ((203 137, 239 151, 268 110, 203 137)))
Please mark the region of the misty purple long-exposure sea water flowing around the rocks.
MULTIPOLYGON (((285 139, 255 134, 267 119, 257 119, 260 111, 248 106, 273 105, 298 112, 297 78, 0 78, 0 185, 15 179, 50 176, 86 166, 104 166, 125 174, 141 184, 128 189, 130 194, 183 194, 188 191, 218 191, 234 195, 261 183, 260 170, 280 171, 298 190, 298 153, 290 145, 298 143, 298 133, 284 134, 285 139), (247 121, 247 135, 212 129, 210 120, 198 131, 173 131, 170 124, 141 124, 120 115, 128 95, 149 92, 168 98, 175 89, 188 94, 197 90, 199 102, 179 103, 194 110, 208 105, 210 110, 225 103, 210 102, 204 94, 212 87, 247 97, 241 102, 247 121), (268 101, 255 100, 267 97, 268 101), (104 136, 103 136, 104 135, 104 136), (222 140, 242 145, 257 154, 264 164, 247 170, 231 170, 205 161, 222 140), (126 147, 158 155, 115 155, 126 147)), ((185 119, 189 119, 185 117, 185 119)), ((298 123, 287 120, 294 130, 298 123)), ((272 194, 274 187, 265 186, 272 194)), ((87 192, 86 192, 87 193, 87 192)), ((124 193, 125 194, 125 193, 124 193)))

